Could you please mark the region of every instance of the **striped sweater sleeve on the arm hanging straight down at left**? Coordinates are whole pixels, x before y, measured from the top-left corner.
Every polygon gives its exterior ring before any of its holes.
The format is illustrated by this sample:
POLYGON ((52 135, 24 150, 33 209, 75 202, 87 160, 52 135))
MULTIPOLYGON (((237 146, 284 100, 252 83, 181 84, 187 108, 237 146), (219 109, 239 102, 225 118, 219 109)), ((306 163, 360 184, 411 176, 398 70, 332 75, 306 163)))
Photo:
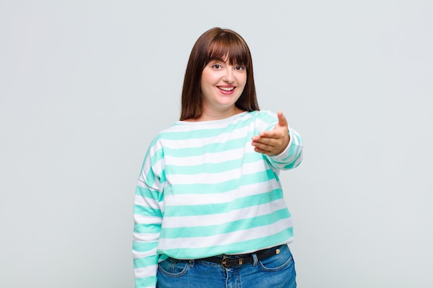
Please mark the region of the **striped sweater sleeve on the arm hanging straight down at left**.
POLYGON ((156 287, 159 260, 156 249, 163 222, 160 154, 154 146, 149 148, 136 187, 132 246, 136 288, 156 287))

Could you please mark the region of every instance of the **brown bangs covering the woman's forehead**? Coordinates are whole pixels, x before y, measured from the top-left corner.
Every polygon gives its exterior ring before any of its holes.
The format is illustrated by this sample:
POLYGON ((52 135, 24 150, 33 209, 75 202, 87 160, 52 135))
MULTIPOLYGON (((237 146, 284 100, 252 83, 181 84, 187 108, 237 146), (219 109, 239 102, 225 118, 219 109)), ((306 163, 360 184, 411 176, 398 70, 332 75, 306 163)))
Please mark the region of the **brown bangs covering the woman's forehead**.
POLYGON ((206 64, 212 60, 227 61, 230 65, 241 65, 250 68, 248 48, 239 39, 229 33, 223 33, 210 44, 206 64))

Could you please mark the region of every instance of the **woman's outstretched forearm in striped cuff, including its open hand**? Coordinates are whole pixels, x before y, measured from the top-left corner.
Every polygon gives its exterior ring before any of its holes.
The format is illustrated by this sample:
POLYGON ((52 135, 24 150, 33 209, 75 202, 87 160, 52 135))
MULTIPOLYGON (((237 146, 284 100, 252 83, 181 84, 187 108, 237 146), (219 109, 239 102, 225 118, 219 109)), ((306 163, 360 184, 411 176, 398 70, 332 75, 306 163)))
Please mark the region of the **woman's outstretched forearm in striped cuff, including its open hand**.
POLYGON ((271 130, 252 137, 252 146, 256 152, 268 155, 273 166, 293 169, 302 161, 302 139, 296 131, 288 128, 282 111, 277 113, 277 117, 278 122, 271 130))

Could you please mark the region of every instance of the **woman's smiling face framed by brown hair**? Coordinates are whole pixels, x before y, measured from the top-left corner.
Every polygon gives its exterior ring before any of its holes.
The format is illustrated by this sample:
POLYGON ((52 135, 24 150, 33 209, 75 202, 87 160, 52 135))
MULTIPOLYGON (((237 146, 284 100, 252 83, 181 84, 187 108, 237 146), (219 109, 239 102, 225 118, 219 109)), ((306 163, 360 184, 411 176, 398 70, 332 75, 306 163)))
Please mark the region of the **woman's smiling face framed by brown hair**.
POLYGON ((201 94, 205 109, 224 111, 234 108, 246 84, 246 68, 229 61, 212 60, 201 73, 201 94))

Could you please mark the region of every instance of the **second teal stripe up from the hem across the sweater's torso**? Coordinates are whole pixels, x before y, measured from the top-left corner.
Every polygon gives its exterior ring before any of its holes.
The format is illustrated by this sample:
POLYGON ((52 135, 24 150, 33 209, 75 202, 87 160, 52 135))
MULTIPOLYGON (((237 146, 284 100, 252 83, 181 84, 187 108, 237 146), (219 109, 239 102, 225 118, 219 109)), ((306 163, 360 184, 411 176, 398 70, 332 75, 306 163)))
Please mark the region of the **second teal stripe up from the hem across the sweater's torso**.
POLYGON ((248 230, 256 227, 262 227, 273 224, 279 220, 289 218, 291 215, 287 209, 281 209, 261 215, 254 218, 237 220, 220 225, 200 226, 200 227, 180 227, 180 228, 165 228, 161 231, 160 238, 190 238, 190 237, 206 237, 219 234, 230 233, 233 231, 248 230))

